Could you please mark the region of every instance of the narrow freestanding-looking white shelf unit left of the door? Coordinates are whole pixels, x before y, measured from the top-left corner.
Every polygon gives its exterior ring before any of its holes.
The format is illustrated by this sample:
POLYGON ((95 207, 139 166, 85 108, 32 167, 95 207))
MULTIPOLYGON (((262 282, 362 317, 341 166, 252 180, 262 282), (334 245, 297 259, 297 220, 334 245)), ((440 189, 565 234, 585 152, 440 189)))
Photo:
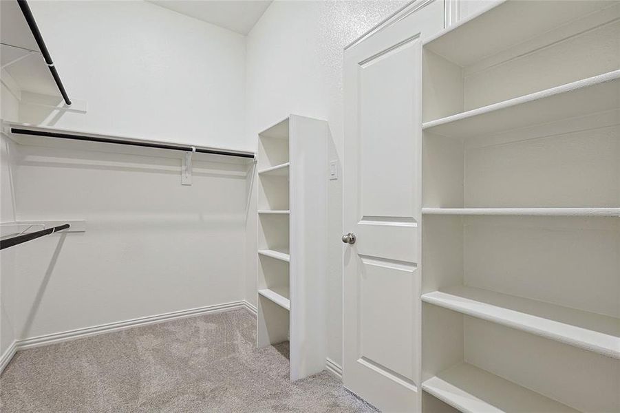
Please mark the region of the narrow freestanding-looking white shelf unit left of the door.
POLYGON ((289 342, 291 381, 325 368, 328 136, 298 115, 259 134, 257 346, 289 342))

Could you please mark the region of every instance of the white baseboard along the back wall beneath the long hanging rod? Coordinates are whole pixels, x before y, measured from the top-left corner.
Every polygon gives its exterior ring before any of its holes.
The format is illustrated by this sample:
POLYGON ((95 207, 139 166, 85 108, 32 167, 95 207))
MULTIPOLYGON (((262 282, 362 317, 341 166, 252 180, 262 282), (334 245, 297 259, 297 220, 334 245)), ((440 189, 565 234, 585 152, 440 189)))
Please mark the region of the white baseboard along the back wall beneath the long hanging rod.
POLYGON ((216 304, 215 306, 204 306, 204 307, 199 307, 199 308, 191 308, 190 310, 173 311, 171 313, 152 315, 149 317, 140 317, 140 318, 126 320, 126 321, 116 321, 114 323, 101 324, 99 326, 77 328, 76 330, 70 330, 70 331, 65 331, 65 332, 55 332, 52 334, 42 335, 39 337, 21 339, 21 340, 17 340, 17 350, 25 350, 26 348, 47 346, 48 344, 61 343, 63 341, 69 341, 69 340, 74 340, 74 339, 81 339, 83 337, 103 334, 105 332, 125 330, 125 328, 147 326, 148 324, 161 323, 162 321, 182 319, 185 317, 194 317, 197 315, 204 315, 204 314, 209 314, 209 313, 220 313, 222 311, 235 310, 237 308, 246 308, 244 303, 245 301, 233 301, 233 302, 225 303, 225 304, 216 304))

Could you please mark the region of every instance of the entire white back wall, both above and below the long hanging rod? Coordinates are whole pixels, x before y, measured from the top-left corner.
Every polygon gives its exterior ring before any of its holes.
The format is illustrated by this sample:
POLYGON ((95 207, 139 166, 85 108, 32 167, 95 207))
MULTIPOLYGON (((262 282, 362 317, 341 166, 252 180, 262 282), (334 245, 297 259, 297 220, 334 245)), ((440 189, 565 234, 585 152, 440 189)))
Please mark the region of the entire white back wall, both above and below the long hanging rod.
MULTIPOLYGON (((142 1, 30 5, 67 91, 88 111, 22 104, 21 121, 254 147, 242 133, 244 36, 142 1)), ((246 165, 194 160, 187 187, 180 158, 76 148, 13 145, 15 218, 87 222, 85 233, 2 251, 2 286, 12 280, 2 304, 17 339, 244 299, 246 165)), ((7 188, 3 180, 3 202, 7 188)))

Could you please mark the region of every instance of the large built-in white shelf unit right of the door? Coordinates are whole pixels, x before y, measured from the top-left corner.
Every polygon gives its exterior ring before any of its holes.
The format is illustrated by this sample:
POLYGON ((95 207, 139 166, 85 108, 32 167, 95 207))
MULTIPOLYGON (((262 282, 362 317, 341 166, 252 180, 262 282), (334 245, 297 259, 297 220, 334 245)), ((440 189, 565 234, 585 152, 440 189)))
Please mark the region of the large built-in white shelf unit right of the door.
POLYGON ((620 2, 429 39, 422 128, 423 410, 620 412, 620 2))

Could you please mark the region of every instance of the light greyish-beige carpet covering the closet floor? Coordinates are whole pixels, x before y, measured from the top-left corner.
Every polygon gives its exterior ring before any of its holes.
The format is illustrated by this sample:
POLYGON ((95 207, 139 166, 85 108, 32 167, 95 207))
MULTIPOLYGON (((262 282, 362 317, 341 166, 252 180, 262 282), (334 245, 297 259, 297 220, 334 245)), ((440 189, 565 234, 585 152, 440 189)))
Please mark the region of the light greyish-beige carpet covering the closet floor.
POLYGON ((328 372, 288 381, 288 344, 257 350, 234 310, 18 352, 0 377, 10 412, 375 412, 328 372))

